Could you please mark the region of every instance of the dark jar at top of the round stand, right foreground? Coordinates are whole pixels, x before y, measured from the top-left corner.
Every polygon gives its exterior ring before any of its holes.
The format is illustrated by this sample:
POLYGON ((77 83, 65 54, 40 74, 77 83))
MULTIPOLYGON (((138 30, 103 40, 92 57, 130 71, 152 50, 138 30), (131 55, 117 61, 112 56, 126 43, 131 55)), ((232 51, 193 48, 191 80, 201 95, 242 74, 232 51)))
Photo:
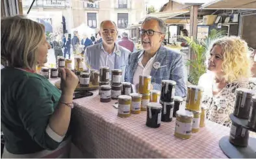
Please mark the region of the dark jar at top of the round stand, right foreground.
POLYGON ((235 100, 234 116, 240 119, 248 119, 251 108, 251 97, 255 95, 253 90, 246 88, 237 89, 237 97, 235 100))

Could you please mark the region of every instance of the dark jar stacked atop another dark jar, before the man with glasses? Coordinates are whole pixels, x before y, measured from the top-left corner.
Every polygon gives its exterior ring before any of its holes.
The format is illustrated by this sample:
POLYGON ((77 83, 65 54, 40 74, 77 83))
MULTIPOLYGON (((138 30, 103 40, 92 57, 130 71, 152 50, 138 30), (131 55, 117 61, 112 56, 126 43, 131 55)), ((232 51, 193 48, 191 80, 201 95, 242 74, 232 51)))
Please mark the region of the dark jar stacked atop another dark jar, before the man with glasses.
POLYGON ((173 80, 162 80, 160 100, 167 103, 173 103, 176 82, 173 80))

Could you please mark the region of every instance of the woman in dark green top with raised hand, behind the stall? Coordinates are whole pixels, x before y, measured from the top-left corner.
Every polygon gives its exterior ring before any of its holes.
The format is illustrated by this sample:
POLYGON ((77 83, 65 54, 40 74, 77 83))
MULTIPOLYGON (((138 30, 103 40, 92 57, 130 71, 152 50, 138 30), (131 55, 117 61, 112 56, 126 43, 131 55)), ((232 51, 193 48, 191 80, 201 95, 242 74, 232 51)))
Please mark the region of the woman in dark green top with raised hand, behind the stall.
POLYGON ((49 48, 44 25, 21 16, 1 19, 3 158, 57 158, 62 152, 78 79, 62 69, 60 92, 35 73, 49 48))

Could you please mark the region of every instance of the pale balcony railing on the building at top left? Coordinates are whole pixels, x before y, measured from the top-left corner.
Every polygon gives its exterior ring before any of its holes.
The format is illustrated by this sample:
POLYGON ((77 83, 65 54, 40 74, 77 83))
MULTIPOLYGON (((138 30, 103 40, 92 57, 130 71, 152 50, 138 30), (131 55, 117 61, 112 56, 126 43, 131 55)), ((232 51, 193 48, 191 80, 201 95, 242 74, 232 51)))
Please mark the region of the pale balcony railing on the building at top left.
MULTIPOLYGON (((22 5, 23 7, 31 6, 33 0, 23 0, 22 5)), ((69 0, 36 0, 32 7, 66 7, 66 3, 69 0)))

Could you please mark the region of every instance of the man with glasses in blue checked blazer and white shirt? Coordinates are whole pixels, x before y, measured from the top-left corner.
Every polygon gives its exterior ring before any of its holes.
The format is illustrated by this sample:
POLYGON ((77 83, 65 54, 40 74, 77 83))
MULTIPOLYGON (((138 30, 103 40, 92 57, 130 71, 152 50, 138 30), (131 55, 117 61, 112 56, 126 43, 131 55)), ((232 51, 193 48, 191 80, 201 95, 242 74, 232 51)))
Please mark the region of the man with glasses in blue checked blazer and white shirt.
POLYGON ((166 33, 162 19, 147 17, 142 23, 140 39, 143 49, 129 56, 125 81, 138 86, 140 75, 151 75, 151 88, 161 89, 162 80, 174 80, 175 95, 186 97, 186 83, 182 55, 161 43, 166 33))

